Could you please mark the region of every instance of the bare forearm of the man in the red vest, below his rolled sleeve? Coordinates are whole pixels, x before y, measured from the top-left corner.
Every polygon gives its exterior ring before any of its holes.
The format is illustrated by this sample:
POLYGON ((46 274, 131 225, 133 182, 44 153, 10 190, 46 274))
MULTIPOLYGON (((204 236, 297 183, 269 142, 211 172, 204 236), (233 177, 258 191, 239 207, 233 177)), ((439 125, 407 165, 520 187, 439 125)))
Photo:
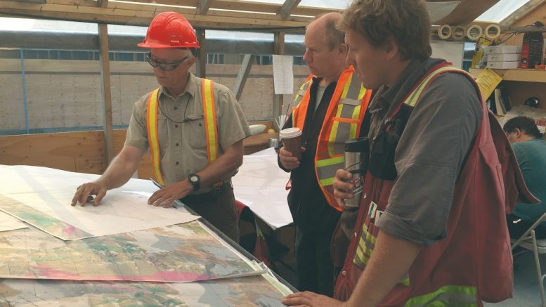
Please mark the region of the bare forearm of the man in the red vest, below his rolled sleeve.
POLYGON ((346 306, 377 306, 402 280, 421 250, 415 243, 379 230, 374 252, 346 306))

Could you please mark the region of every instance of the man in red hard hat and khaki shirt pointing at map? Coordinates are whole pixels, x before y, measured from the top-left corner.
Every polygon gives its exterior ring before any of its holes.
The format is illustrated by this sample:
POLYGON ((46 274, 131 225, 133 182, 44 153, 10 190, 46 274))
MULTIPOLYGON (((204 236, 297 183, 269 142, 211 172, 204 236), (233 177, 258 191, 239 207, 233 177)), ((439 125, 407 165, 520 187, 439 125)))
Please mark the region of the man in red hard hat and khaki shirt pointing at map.
POLYGON ((238 241, 231 177, 242 164, 242 140, 249 127, 233 93, 221 84, 195 77, 195 31, 183 15, 160 13, 152 20, 141 48, 160 87, 133 109, 125 145, 103 176, 79 186, 72 200, 84 205, 96 195, 124 185, 150 150, 157 182, 163 186, 148 204, 170 207, 174 200, 238 241))

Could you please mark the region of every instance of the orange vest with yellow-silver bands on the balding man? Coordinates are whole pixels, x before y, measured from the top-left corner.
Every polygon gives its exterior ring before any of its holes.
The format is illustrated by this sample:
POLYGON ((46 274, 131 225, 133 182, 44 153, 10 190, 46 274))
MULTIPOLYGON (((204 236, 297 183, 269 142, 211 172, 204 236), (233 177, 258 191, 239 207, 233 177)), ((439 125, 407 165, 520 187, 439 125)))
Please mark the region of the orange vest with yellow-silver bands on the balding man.
MULTIPOLYGON (((292 126, 299 127, 302 131, 311 97, 312 77, 307 77, 294 98, 296 107, 292 112, 292 126)), ((320 129, 315 154, 315 174, 328 204, 338 211, 342 211, 342 208, 337 205, 334 197, 334 175, 338 169, 344 168, 344 143, 358 137, 371 95, 372 91, 365 89, 362 81, 356 77, 354 67, 349 66, 337 80, 320 129)))

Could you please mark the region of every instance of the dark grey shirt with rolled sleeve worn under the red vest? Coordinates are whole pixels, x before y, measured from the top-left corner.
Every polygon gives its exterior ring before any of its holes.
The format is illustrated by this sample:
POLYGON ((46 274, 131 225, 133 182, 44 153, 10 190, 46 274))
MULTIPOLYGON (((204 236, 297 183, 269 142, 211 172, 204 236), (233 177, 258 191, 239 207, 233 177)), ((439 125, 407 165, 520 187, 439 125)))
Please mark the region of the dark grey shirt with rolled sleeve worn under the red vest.
MULTIPOLYGON (((441 60, 414 60, 390 89, 379 89, 370 104, 370 138, 417 81, 441 60)), ((447 218, 460 174, 481 122, 481 99, 458 73, 436 77, 417 101, 396 147, 398 178, 377 226, 417 244, 446 237, 447 218)))

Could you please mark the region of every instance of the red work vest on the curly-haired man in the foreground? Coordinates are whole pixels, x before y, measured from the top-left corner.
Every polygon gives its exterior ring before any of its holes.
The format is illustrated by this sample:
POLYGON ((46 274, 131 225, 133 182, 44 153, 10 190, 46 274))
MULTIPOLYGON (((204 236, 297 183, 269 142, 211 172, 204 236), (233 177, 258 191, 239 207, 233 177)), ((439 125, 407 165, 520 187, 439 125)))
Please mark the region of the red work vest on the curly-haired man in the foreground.
MULTIPOLYGON (((440 66, 444 67, 434 67, 417 84, 403 102, 405 107, 414 107, 439 74, 459 72, 474 82, 462 70, 440 66)), ((476 140, 455 183, 447 237, 422 247, 407 275, 379 306, 481 306, 481 300, 496 302, 512 296, 512 254, 505 214, 513 209, 520 192, 526 200, 534 197, 525 188, 506 136, 483 102, 482 110, 476 140)), ((368 172, 335 298, 349 299, 368 265, 379 233, 375 223, 395 183, 368 172)))

